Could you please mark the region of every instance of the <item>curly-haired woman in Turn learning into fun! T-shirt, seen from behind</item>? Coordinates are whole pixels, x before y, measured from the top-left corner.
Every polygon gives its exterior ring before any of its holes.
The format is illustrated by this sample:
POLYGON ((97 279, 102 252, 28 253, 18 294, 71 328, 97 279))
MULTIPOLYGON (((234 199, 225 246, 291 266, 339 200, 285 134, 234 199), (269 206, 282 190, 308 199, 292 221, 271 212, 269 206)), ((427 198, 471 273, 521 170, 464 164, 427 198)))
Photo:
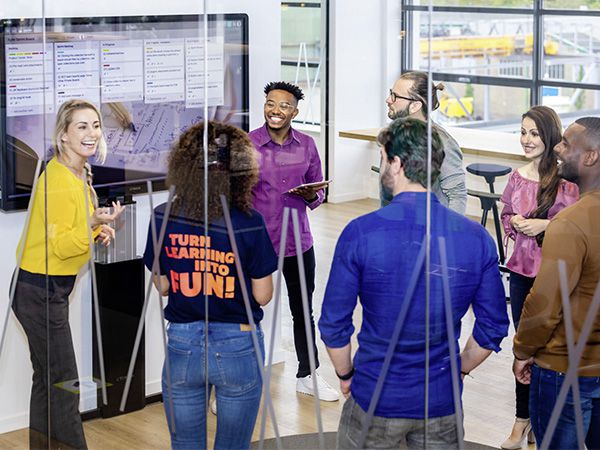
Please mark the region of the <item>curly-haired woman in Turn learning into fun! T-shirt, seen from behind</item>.
MULTIPOLYGON (((252 142, 243 131, 218 122, 209 122, 207 132, 206 164, 204 123, 181 136, 169 159, 167 184, 175 187, 175 198, 159 255, 160 275, 154 278, 162 295, 168 295, 165 318, 172 386, 167 386, 164 367, 163 398, 169 426, 175 424, 170 429, 174 449, 206 448, 206 383, 209 395, 215 387, 219 411, 215 448, 249 448, 262 392, 263 361, 253 347, 235 259, 240 259, 258 324, 261 306, 273 294, 271 274, 277 269, 277 258, 262 216, 251 207, 252 187, 258 180, 252 142), (228 200, 237 254, 227 234, 221 195, 228 200)), ((156 230, 162 226, 165 208, 163 204, 155 209, 156 230)), ((150 231, 144 261, 152 270, 150 231)), ((260 326, 257 335, 262 356, 260 326)))

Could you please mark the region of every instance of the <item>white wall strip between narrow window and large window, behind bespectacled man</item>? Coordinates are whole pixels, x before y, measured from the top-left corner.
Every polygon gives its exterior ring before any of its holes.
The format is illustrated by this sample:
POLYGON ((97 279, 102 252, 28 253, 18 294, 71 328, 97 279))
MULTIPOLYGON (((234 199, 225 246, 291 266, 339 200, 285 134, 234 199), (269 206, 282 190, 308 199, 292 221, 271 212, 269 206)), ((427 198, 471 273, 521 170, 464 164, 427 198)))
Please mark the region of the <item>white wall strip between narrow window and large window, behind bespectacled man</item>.
POLYGON ((386 123, 387 91, 400 74, 400 7, 393 0, 331 2, 329 201, 375 197, 375 144, 340 138, 344 130, 386 123))

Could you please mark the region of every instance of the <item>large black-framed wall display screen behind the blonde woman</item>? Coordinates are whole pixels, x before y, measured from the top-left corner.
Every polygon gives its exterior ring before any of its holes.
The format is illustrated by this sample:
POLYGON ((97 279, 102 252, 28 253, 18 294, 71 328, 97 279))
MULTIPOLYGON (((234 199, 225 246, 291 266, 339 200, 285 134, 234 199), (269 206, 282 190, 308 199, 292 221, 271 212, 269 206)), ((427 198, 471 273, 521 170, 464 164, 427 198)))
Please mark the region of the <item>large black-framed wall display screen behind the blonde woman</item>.
POLYGON ((0 208, 27 206, 36 161, 53 151, 56 111, 71 98, 102 112, 108 157, 90 161, 101 196, 160 184, 172 143, 205 103, 210 119, 248 131, 248 17, 208 24, 205 40, 203 16, 2 20, 0 208))

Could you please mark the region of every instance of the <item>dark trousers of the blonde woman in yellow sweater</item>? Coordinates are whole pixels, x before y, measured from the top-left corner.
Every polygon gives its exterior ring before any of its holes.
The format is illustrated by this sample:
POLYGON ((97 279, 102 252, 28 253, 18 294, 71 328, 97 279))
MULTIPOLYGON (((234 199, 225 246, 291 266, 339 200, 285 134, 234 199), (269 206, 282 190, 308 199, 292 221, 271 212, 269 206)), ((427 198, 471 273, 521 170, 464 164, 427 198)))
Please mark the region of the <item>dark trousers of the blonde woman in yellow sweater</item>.
POLYGON ((46 277, 19 270, 12 308, 27 335, 33 365, 29 405, 32 449, 87 448, 69 326, 69 294, 74 284, 75 276, 46 277))

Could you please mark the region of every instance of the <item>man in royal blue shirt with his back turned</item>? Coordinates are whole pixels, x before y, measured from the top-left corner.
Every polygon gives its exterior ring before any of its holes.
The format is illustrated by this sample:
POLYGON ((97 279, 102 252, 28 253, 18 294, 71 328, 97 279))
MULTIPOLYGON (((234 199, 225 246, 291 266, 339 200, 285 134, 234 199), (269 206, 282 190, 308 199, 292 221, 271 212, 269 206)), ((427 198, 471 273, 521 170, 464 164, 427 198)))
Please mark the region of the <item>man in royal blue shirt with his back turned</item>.
MULTIPOLYGON (((427 193, 425 122, 397 119, 378 140, 382 144, 381 187, 393 200, 387 207, 353 220, 342 232, 319 320, 321 338, 348 398, 340 419, 338 448, 398 448, 402 442, 409 448, 423 448, 425 442, 427 448, 457 447, 455 405, 460 399, 453 397, 451 366, 456 363, 458 382, 492 351, 500 350, 508 331, 496 248, 481 225, 442 206, 435 195, 427 193), (422 261, 428 196, 431 247, 427 276, 422 261), (418 275, 416 284, 411 283, 413 272, 418 275), (362 305, 362 324, 352 361, 350 339, 357 298, 362 305), (453 349, 458 349, 461 319, 469 308, 475 325, 458 354, 453 349), (399 338, 386 369, 385 355, 397 326, 399 338), (385 381, 377 392, 382 371, 385 381), (377 402, 374 417, 361 442, 371 400, 377 402), (425 417, 429 419, 427 436, 425 417)), ((435 129, 431 147, 434 182, 444 159, 435 129)))

